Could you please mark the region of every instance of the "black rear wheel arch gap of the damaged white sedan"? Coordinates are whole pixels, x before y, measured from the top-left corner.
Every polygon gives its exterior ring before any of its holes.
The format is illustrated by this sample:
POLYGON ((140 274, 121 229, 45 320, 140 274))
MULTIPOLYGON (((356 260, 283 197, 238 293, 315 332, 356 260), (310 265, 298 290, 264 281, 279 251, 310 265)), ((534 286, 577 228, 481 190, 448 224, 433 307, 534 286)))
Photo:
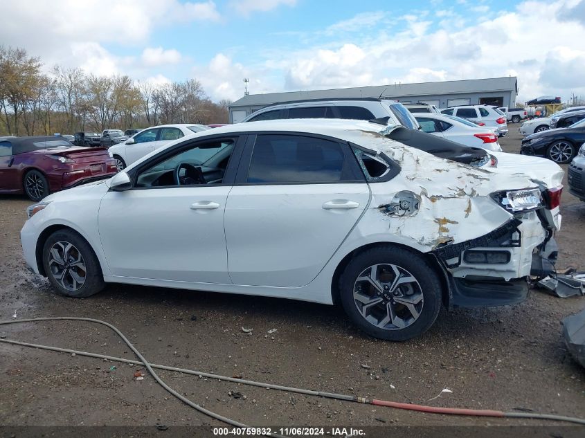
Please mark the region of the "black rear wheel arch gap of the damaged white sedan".
POLYGON ((431 253, 422 253, 419 250, 415 250, 414 248, 411 248, 410 246, 407 246, 404 244, 399 244, 396 242, 388 242, 388 241, 378 241, 378 242, 373 242, 373 243, 366 244, 363 246, 359 246, 358 248, 355 248, 354 250, 350 251, 350 253, 348 253, 347 255, 345 255, 345 257, 343 257, 343 259, 341 259, 341 261, 339 262, 339 264, 337 264, 337 266, 335 268, 335 271, 333 273, 333 277, 331 280, 331 299, 333 301, 333 304, 337 305, 340 303, 339 280, 341 279, 341 275, 343 274, 343 271, 345 271, 345 268, 348 266, 351 259, 353 257, 355 257, 356 255, 358 255, 359 253, 363 253, 363 251, 366 251, 366 250, 369 250, 372 248, 384 247, 384 246, 392 246, 392 247, 402 248, 404 250, 410 251, 411 253, 414 253, 414 254, 422 257, 423 259, 425 259, 426 262, 429 263, 431 268, 433 268, 433 270, 437 273, 437 275, 440 279, 441 299, 442 299, 443 305, 445 307, 449 308, 449 305, 451 302, 451 289, 449 288, 449 282, 447 280, 447 275, 444 271, 444 268, 442 268, 438 259, 436 257, 434 257, 431 253))

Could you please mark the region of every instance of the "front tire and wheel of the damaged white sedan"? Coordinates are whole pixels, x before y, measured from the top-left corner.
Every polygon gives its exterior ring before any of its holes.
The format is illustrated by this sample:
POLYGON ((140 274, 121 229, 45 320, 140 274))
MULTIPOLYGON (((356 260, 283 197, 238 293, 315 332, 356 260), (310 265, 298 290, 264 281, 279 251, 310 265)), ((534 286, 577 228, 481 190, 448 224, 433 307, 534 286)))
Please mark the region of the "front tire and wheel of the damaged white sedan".
POLYGON ((104 289, 98 257, 73 230, 57 230, 46 239, 42 253, 48 280, 60 295, 86 298, 104 289))

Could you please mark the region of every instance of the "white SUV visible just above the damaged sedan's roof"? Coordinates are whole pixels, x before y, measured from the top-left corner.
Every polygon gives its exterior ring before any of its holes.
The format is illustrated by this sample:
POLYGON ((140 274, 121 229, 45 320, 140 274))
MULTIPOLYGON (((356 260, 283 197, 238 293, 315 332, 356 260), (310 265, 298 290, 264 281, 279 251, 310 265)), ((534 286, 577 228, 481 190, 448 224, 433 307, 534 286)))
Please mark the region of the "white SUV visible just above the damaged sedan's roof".
POLYGON ((284 118, 344 118, 374 120, 388 118, 388 125, 420 129, 413 115, 397 100, 376 98, 312 99, 282 102, 251 113, 242 122, 284 118))

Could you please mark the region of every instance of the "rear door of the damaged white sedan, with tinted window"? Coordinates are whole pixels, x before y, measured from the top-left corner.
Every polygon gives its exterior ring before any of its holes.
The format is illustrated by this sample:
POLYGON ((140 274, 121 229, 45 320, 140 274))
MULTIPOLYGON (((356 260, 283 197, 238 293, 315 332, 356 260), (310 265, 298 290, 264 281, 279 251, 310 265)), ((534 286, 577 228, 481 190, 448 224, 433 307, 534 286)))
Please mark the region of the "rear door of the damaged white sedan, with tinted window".
POLYGON ((369 199, 347 144, 310 134, 249 136, 226 205, 231 280, 255 286, 309 284, 369 199))

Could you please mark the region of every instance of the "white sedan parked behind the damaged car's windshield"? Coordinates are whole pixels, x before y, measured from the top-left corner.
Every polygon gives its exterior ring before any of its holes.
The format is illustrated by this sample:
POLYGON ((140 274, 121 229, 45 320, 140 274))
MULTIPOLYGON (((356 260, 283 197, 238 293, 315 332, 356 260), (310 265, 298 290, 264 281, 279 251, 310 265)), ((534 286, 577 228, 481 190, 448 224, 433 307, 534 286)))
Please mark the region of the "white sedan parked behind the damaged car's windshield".
POLYGON ((134 134, 124 143, 111 146, 108 152, 114 160, 116 167, 123 170, 128 165, 139 160, 150 152, 167 145, 172 140, 190 136, 195 132, 210 129, 205 125, 193 125, 192 123, 179 123, 175 125, 159 125, 134 134))

